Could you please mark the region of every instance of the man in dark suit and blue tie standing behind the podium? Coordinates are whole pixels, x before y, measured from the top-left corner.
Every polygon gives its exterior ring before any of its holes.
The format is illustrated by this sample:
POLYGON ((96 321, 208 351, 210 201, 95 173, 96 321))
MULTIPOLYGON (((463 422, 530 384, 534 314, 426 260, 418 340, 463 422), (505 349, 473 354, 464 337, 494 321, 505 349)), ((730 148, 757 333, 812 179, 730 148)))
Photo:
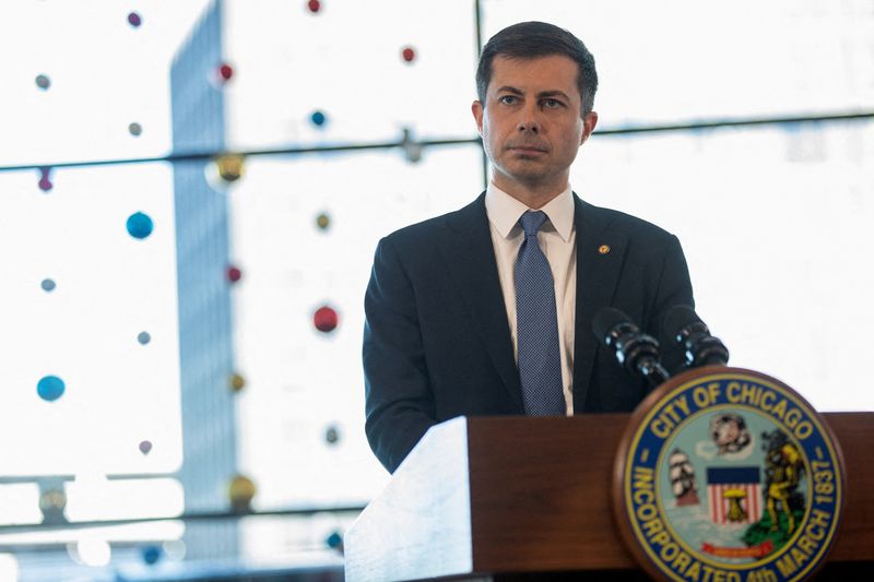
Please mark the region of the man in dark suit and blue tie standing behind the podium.
POLYGON ((660 337, 668 309, 693 305, 676 237, 570 189, 598 122, 584 45, 517 24, 486 44, 476 81, 488 189, 380 240, 365 296, 366 432, 389 472, 454 416, 631 411, 647 387, 599 347, 594 313, 616 307, 660 337))

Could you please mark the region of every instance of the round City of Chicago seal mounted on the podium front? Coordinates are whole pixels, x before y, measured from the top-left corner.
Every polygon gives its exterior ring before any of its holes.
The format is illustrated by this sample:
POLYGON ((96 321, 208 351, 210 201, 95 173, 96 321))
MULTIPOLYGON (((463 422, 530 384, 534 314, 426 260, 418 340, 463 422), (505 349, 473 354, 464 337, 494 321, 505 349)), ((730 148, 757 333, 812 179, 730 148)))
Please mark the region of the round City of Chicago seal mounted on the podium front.
POLYGON ((840 523, 837 440, 768 376, 711 366, 659 387, 616 456, 619 531, 652 575, 700 582, 802 580, 840 523))

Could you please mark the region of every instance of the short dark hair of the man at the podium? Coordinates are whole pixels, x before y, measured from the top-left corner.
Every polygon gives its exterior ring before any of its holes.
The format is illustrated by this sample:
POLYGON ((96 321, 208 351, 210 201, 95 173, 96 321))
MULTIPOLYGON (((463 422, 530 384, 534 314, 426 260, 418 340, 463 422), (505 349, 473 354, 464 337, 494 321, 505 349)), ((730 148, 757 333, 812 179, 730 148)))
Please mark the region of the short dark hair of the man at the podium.
POLYGON ((594 57, 582 40, 553 24, 545 22, 520 22, 507 26, 488 39, 480 55, 476 68, 476 94, 485 104, 485 94, 492 81, 492 61, 495 57, 510 59, 536 59, 563 55, 574 60, 577 72, 577 88, 582 97, 582 115, 592 110, 594 94, 598 91, 598 73, 594 57))

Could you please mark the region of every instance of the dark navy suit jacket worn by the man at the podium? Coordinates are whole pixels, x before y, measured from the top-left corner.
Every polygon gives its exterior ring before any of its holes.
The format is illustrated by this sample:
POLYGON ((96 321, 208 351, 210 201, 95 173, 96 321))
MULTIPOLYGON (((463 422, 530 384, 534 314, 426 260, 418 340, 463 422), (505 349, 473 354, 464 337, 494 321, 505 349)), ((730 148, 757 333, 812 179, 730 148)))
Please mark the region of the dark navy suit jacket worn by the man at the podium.
MULTIPOLYGON (((693 305, 675 236, 574 194, 577 301, 574 412, 631 411, 646 384, 591 332, 612 306, 660 338, 664 313, 693 305), (603 245, 606 253, 599 252, 603 245)), ((380 240, 365 296, 366 432, 390 472, 433 425, 465 415, 524 414, 485 193, 468 206, 380 240)), ((664 357, 681 365, 682 354, 664 357)))

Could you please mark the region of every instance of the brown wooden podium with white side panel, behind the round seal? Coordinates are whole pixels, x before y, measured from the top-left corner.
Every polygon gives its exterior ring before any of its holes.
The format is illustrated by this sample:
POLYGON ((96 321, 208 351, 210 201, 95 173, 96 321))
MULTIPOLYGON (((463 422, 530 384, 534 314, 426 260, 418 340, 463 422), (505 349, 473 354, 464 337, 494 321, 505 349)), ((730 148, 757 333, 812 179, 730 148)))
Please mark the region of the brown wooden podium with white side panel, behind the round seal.
MULTIPOLYGON (((843 449, 847 497, 818 579, 874 580, 874 413, 823 416, 843 449)), ((346 580, 646 579, 611 509, 628 418, 459 417, 432 428, 346 532, 346 580)))

